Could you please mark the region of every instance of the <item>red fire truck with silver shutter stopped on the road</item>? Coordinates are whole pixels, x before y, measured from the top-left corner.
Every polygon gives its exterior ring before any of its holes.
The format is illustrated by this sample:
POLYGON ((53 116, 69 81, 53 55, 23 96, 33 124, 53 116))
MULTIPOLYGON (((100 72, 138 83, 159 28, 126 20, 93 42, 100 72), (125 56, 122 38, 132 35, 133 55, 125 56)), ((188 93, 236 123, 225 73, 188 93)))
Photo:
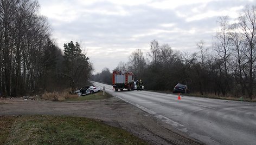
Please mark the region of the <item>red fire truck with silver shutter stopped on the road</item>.
POLYGON ((113 89, 118 90, 134 90, 133 74, 128 72, 113 71, 112 75, 113 89))

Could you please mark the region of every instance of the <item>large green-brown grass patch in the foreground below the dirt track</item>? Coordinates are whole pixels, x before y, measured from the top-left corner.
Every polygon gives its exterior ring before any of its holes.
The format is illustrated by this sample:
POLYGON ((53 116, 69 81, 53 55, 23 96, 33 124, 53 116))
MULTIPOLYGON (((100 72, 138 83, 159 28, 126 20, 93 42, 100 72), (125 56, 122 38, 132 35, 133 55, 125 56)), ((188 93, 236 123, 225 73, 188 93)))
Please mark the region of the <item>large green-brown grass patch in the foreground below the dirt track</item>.
POLYGON ((68 116, 0 116, 0 144, 147 144, 99 120, 68 116))

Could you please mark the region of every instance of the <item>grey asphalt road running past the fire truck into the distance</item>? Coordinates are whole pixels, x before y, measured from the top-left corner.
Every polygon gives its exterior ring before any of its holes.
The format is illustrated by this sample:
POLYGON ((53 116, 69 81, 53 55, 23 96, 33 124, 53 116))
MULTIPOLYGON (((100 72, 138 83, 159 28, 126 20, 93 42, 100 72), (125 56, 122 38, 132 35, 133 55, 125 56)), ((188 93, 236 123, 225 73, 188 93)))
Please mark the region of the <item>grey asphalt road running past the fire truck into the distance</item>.
POLYGON ((151 91, 105 91, 206 144, 256 144, 256 103, 214 100, 151 91))

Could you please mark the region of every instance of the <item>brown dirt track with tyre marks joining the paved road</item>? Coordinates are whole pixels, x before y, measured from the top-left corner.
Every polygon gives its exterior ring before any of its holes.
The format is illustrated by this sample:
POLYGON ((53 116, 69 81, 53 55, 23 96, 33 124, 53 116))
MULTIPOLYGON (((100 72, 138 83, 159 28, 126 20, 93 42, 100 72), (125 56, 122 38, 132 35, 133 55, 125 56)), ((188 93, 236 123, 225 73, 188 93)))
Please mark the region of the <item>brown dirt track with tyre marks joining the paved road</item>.
POLYGON ((116 97, 80 102, 2 99, 0 110, 0 116, 67 115, 95 118, 123 128, 149 144, 203 144, 116 97))

